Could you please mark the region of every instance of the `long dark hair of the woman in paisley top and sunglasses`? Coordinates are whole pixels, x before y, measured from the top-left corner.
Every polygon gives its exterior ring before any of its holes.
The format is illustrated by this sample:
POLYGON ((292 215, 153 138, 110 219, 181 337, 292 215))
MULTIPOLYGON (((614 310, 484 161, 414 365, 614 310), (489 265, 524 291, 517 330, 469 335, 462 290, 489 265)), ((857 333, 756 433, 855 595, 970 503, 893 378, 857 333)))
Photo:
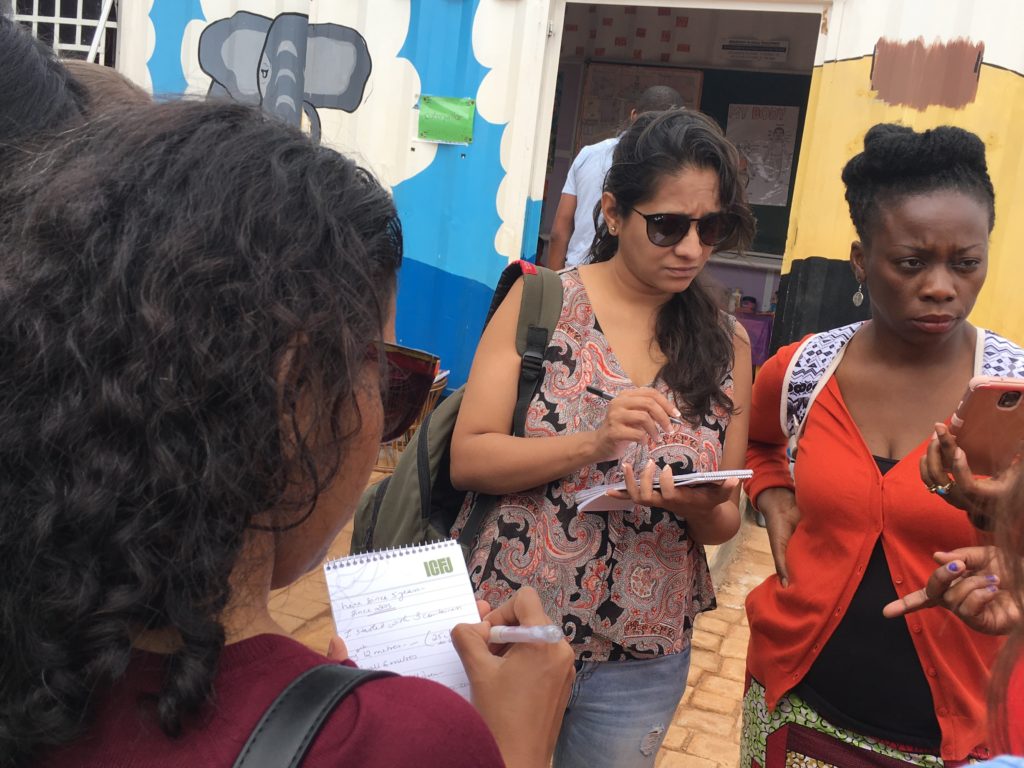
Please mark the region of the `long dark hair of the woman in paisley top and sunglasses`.
MULTIPOLYGON (((615 145, 604 191, 615 198, 626 217, 649 200, 666 176, 686 168, 718 174, 721 210, 733 214, 738 226, 716 250, 739 249, 754 240, 754 216, 739 179, 739 153, 714 120, 691 110, 644 113, 615 145)), ((591 261, 607 261, 618 250, 618 238, 594 214, 596 234, 591 261)), ((718 407, 732 411, 722 383, 732 368, 731 334, 701 278, 673 296, 658 311, 654 337, 666 356, 660 376, 679 396, 680 411, 697 422, 718 407)))

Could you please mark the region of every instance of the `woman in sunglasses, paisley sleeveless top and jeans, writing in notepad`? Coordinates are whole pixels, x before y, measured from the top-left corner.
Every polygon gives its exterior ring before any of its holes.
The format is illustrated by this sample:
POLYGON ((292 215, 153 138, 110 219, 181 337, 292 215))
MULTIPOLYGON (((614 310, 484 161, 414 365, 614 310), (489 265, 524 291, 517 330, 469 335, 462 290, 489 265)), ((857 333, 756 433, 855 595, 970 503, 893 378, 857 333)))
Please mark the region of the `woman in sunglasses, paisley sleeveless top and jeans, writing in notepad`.
POLYGON ((559 768, 653 765, 686 686, 693 620, 715 606, 701 545, 739 525, 734 481, 671 481, 743 463, 750 344, 698 280, 713 251, 753 234, 737 163, 703 115, 642 115, 615 148, 592 263, 561 272, 524 437, 510 436, 520 288, 473 361, 452 479, 501 499, 471 575, 485 600, 534 587, 575 651, 559 768), (629 509, 577 508, 580 490, 624 478, 629 509))

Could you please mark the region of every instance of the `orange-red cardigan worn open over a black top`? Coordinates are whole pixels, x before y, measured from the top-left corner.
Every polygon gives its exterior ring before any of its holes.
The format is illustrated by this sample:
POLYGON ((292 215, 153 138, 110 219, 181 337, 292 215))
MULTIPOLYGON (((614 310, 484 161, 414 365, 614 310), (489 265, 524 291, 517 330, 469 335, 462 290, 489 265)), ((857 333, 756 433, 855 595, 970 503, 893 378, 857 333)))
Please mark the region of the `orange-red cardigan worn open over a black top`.
MULTIPOLYGON (((746 493, 755 505, 766 488, 793 487, 779 403, 798 346, 782 347, 754 383, 746 452, 754 478, 746 493)), ((783 589, 773 574, 746 599, 748 669, 765 686, 769 707, 803 679, 828 641, 880 536, 900 596, 928 581, 936 567, 933 552, 977 543, 967 515, 922 483, 919 460, 927 445, 923 441, 883 477, 835 377, 811 407, 796 468, 801 521, 786 551, 790 586, 783 589)), ((986 740, 989 670, 1002 640, 968 629, 945 610, 920 611, 906 621, 942 729, 941 757, 965 759, 986 740)))

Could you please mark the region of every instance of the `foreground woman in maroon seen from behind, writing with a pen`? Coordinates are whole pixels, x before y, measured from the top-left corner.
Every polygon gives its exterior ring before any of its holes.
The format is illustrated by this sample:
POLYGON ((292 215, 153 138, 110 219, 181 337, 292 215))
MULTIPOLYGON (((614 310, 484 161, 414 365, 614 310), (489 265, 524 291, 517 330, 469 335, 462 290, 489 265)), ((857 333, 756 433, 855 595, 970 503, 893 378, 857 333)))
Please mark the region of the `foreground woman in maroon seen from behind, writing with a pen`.
MULTIPOLYGON (((269 591, 318 567, 433 376, 381 343, 394 206, 258 110, 148 105, 4 174, 0 253, 0 766, 227 768, 328 663, 269 591)), ((550 620, 524 591, 488 621, 550 620)), ((485 629, 453 633, 476 710, 375 679, 303 765, 546 765, 571 653, 485 629)))

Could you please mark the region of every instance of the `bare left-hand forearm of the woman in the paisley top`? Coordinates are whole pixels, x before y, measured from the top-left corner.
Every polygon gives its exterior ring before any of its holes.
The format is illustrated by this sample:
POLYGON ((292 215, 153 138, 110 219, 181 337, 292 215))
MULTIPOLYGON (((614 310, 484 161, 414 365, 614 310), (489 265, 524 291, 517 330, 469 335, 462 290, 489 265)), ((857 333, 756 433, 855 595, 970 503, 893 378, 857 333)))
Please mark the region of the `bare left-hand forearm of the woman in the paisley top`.
POLYGON ((545 485, 598 460, 594 435, 513 437, 489 433, 453 440, 452 484, 494 495, 545 485))

